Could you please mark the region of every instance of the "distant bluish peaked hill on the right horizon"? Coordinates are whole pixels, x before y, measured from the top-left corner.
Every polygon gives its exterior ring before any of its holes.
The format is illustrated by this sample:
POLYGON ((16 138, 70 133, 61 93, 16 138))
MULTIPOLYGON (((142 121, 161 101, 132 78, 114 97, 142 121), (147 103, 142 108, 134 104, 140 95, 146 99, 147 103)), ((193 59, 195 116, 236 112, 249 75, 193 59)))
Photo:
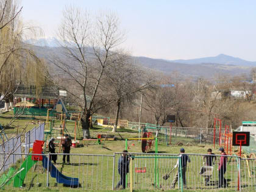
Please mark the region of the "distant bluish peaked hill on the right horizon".
POLYGON ((219 54, 216 57, 204 57, 199 59, 170 60, 170 62, 186 64, 218 63, 222 65, 256 66, 256 62, 249 62, 238 57, 232 57, 224 54, 219 54))

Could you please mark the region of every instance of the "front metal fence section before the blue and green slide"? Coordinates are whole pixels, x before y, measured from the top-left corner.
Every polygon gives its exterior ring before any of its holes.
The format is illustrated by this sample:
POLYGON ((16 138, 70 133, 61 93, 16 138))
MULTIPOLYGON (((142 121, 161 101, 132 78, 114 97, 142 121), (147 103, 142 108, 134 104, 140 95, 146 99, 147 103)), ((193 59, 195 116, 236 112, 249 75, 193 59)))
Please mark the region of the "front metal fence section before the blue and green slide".
POLYGON ((5 186, 5 190, 19 187, 38 191, 45 187, 50 190, 64 187, 63 190, 68 191, 112 190, 114 155, 69 154, 69 165, 62 163, 63 155, 66 154, 57 154, 57 162, 54 164, 49 160, 49 154, 39 154, 43 156, 43 160, 39 161, 30 160, 31 154, 13 155, 26 155, 21 162, 12 165, 17 171, 20 168, 24 168, 24 171, 14 177, 13 182, 5 186))

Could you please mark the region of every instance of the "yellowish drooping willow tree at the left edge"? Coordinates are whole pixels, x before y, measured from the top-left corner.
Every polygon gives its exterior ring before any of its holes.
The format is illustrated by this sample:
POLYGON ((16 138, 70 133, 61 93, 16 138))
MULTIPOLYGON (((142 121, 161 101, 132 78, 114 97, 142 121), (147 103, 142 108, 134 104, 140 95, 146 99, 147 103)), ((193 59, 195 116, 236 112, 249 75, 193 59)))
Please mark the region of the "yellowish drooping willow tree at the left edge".
MULTIPOLYGON (((47 70, 44 62, 34 54, 29 44, 23 43, 24 35, 36 34, 34 27, 25 27, 16 1, 0 2, 0 94, 5 100, 5 110, 13 101, 15 85, 42 85, 47 70)), ((11 106, 12 107, 12 106, 11 106)))

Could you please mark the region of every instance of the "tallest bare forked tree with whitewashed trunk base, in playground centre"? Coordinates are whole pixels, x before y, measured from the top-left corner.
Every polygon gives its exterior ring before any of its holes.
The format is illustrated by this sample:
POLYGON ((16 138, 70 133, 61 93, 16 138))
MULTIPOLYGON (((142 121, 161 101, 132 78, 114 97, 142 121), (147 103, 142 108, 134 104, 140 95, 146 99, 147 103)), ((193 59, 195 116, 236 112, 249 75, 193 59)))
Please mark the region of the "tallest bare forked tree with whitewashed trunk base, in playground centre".
POLYGON ((63 74, 63 83, 69 94, 77 98, 82 108, 82 128, 84 137, 90 138, 90 116, 115 99, 102 104, 102 77, 110 65, 118 63, 116 48, 123 43, 124 35, 119 30, 118 17, 112 13, 90 19, 90 15, 80 9, 68 7, 64 10, 63 21, 59 27, 60 45, 63 58, 52 59, 63 74), (66 84, 73 84, 70 90, 66 84))

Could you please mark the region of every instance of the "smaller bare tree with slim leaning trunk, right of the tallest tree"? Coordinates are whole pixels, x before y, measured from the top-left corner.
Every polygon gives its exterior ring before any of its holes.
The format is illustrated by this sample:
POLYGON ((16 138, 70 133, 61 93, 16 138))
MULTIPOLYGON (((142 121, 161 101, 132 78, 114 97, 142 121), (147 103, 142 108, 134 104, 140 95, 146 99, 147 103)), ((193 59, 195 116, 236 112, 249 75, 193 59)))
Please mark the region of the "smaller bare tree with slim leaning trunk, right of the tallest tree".
MULTIPOLYGON (((143 78, 143 71, 138 66, 133 64, 133 60, 129 54, 123 52, 116 55, 119 57, 118 63, 113 63, 106 70, 104 85, 108 87, 110 96, 116 99, 116 115, 115 125, 112 132, 116 132, 118 126, 118 117, 121 104, 128 102, 132 104, 132 100, 138 91, 148 88, 151 84, 150 78, 143 78)), ((106 90, 107 91, 107 90, 106 90)))

